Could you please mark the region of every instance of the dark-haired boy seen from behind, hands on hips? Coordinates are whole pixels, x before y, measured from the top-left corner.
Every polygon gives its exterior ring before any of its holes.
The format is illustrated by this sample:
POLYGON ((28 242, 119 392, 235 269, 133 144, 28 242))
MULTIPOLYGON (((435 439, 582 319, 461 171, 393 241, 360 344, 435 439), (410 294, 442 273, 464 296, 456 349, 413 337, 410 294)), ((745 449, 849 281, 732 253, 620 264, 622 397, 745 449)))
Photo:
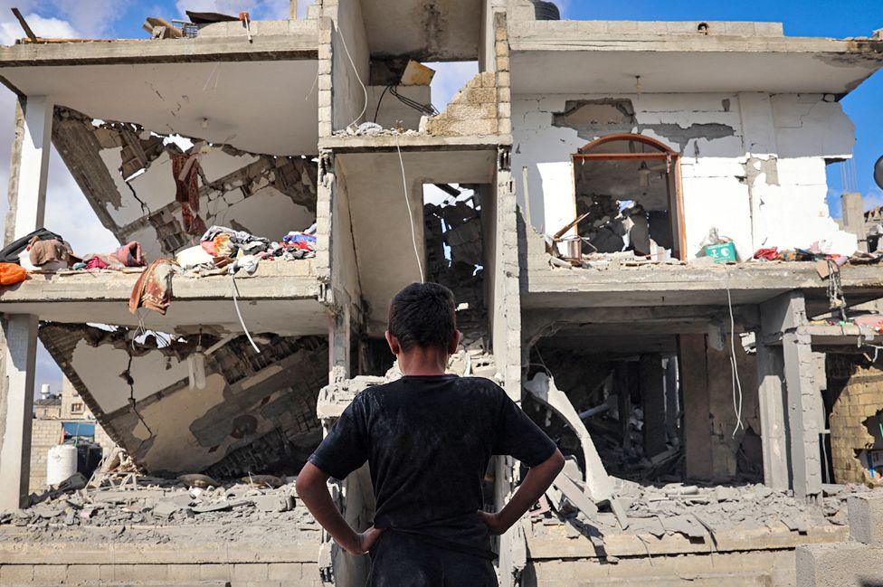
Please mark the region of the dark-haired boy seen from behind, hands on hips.
POLYGON ((564 466, 555 443, 495 383, 445 374, 457 351, 451 290, 414 283, 393 298, 386 340, 404 377, 359 393, 298 477, 298 494, 337 544, 371 554, 371 587, 491 587, 501 535, 564 466), (530 469, 508 505, 481 510, 492 455, 530 469), (375 524, 357 534, 326 482, 370 464, 375 524))

